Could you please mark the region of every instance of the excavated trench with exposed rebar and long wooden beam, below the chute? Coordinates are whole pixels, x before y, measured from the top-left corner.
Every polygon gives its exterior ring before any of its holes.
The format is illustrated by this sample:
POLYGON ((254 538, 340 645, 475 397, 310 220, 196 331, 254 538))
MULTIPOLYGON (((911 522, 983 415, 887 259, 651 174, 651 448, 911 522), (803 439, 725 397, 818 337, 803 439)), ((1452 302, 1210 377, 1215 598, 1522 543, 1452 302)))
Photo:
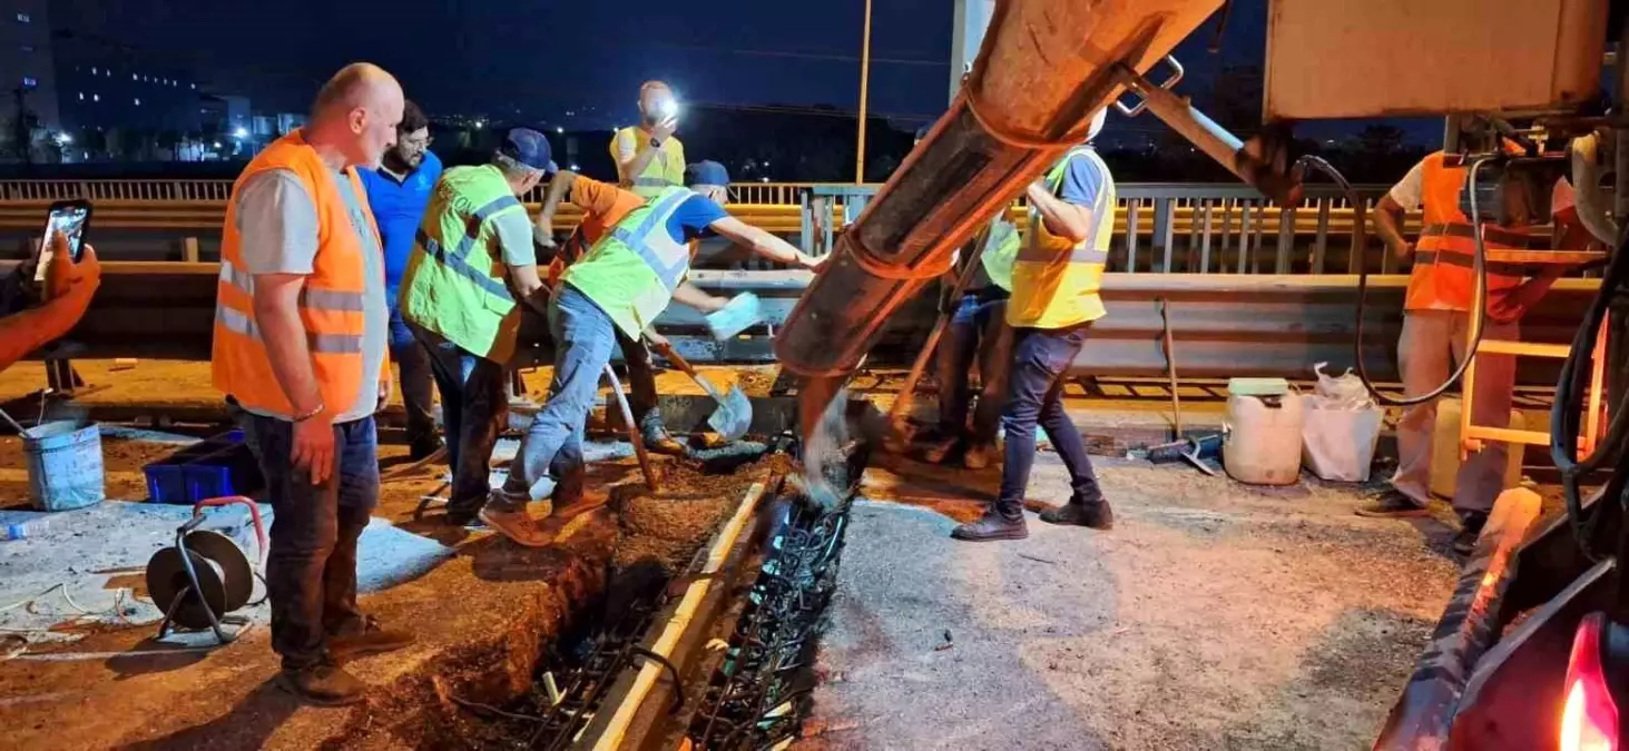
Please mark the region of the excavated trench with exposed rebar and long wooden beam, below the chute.
POLYGON ((469 749, 735 749, 795 738, 880 417, 868 402, 834 404, 832 435, 813 441, 823 456, 792 437, 795 409, 754 404, 769 414, 754 430, 779 435, 670 464, 658 492, 614 487, 604 586, 542 637, 531 684, 500 705, 438 686, 440 700, 391 735, 469 749))

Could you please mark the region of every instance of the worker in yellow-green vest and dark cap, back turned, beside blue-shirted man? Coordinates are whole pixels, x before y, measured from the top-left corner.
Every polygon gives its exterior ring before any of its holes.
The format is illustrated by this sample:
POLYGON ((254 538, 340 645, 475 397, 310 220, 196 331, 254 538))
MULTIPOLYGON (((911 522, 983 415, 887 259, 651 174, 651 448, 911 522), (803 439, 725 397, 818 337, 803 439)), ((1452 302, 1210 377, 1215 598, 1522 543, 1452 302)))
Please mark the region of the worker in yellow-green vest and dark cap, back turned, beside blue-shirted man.
MULTIPOLYGON (((518 195, 554 169, 547 138, 513 129, 479 166, 448 169, 437 182, 402 277, 401 310, 430 350, 441 391, 441 422, 453 466, 446 521, 477 516, 500 526, 508 516, 482 507, 492 490, 489 466, 508 422, 510 363, 528 305, 544 300, 531 222, 518 195)), ((582 492, 562 482, 555 498, 582 492)))

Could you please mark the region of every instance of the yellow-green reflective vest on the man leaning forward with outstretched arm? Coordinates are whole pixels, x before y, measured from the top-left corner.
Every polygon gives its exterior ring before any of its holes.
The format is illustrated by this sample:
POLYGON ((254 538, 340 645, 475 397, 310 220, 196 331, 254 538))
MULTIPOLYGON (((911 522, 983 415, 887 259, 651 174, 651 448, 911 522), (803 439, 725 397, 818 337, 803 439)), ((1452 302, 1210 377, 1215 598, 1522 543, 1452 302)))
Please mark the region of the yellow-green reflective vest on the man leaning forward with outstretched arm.
POLYGON ((691 270, 689 243, 673 239, 668 220, 687 199, 686 187, 661 191, 627 212, 588 253, 565 269, 567 283, 637 339, 673 301, 673 290, 691 270))

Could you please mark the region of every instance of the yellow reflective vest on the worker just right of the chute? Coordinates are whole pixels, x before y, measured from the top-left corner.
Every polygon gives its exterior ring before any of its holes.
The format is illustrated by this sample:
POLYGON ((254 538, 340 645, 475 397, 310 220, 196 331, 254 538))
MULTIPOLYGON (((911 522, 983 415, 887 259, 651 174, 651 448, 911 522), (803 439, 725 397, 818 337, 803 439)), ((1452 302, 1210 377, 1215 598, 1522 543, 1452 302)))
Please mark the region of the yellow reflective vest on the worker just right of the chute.
POLYGON ((1103 267, 1109 261, 1114 239, 1114 178, 1091 147, 1075 147, 1046 173, 1046 184, 1056 195, 1064 184, 1070 160, 1091 160, 1103 171, 1103 189, 1091 205, 1096 225, 1080 243, 1046 231, 1041 213, 1030 207, 1030 236, 1013 262, 1012 300, 1007 323, 1034 329, 1062 329, 1096 321, 1106 313, 1098 288, 1103 267))

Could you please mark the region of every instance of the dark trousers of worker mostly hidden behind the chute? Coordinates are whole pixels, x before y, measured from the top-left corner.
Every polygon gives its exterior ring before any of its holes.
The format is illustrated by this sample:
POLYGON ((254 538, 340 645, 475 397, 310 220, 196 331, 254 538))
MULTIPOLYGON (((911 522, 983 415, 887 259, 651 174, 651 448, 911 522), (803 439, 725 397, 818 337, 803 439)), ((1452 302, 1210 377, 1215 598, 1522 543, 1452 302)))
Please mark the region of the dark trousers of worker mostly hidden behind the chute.
POLYGON ((969 292, 950 316, 938 342, 938 424, 946 435, 966 435, 974 446, 995 443, 1002 404, 1007 401, 1007 367, 1012 358, 1013 329, 1007 326, 1007 295, 969 292), (968 430, 973 393, 968 373, 979 363, 979 404, 968 430))

